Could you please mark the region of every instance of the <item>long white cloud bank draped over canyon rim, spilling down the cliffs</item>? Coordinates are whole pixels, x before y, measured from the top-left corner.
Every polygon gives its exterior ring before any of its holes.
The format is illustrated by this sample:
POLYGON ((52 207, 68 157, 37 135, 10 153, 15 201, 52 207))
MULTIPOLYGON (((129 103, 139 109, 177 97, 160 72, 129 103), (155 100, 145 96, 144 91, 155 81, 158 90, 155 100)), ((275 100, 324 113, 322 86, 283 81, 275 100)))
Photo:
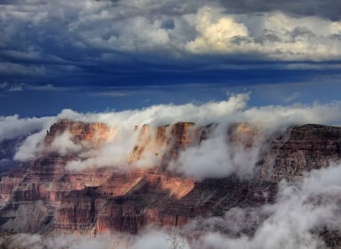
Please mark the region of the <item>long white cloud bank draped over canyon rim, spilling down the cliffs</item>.
MULTIPOLYGON (((59 134, 50 147, 50 151, 60 155, 75 154, 77 160, 70 161, 67 169, 83 170, 94 167, 115 166, 119 169, 148 168, 161 163, 161 155, 171 146, 161 148, 158 144, 149 142, 141 160, 129 161, 136 145, 144 146, 148 137, 139 137, 143 124, 148 124, 156 132, 156 127, 175 122, 195 122, 192 132, 207 124, 215 123, 207 139, 200 144, 193 142, 190 147, 180 151, 178 159, 171 161, 169 169, 186 176, 202 179, 205 177, 222 177, 229 174, 247 176, 252 174, 264 139, 272 132, 285 131, 291 125, 307 123, 340 124, 341 103, 326 104, 315 102, 312 105, 266 105, 249 107, 250 93, 232 95, 222 102, 207 102, 201 105, 188 103, 185 105, 152 105, 141 110, 126 110, 121 112, 79 113, 63 110, 55 117, 20 119, 17 116, 1 117, 0 127, 4 127, 3 139, 11 136, 31 134, 18 148, 14 159, 27 161, 34 159, 44 151, 46 131, 50 124, 58 119, 70 119, 80 122, 101 122, 107 124, 109 133, 102 147, 94 148, 88 144, 77 144, 70 134, 59 134), (228 134, 229 127, 237 122, 246 122, 259 129, 259 135, 245 147, 243 137, 237 134, 237 142, 231 142, 234 134, 228 134), (139 128, 135 132, 134 126, 139 128), (139 140, 140 139, 140 140, 139 140), (142 140, 141 140, 142 139, 142 140), (238 142, 238 141, 241 142, 238 142), (210 165, 208 167, 207 165, 210 165)), ((247 128, 249 129, 249 128, 247 128)), ((171 125, 166 128, 168 134, 171 125)), ((156 133, 151 132, 152 140, 156 133)), ((238 132, 237 132, 238 133, 238 132)), ((191 132, 190 132, 191 134, 191 132)), ((234 139, 236 140, 236 139, 234 139)))

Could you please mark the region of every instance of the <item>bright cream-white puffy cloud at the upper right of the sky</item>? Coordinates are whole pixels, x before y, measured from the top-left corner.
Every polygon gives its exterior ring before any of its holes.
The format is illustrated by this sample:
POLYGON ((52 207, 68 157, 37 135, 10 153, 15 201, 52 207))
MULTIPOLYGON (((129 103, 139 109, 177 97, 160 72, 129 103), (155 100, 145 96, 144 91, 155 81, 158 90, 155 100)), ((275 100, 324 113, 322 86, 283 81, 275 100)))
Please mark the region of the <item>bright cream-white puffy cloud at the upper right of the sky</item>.
POLYGON ((341 22, 280 12, 226 15, 203 7, 188 16, 198 34, 185 47, 193 53, 261 54, 276 60, 337 60, 341 22), (193 21, 194 20, 194 21, 193 21))

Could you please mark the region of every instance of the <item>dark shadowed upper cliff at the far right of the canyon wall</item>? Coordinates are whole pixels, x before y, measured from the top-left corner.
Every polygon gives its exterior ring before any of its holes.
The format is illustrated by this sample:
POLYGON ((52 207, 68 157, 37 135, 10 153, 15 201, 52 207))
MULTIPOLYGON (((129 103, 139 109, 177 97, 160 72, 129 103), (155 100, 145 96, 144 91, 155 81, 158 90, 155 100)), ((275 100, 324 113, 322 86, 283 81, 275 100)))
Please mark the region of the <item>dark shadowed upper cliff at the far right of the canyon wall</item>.
POLYGON ((325 168, 341 156, 341 129, 318 124, 293 127, 269 142, 262 161, 261 179, 293 181, 304 171, 325 168))

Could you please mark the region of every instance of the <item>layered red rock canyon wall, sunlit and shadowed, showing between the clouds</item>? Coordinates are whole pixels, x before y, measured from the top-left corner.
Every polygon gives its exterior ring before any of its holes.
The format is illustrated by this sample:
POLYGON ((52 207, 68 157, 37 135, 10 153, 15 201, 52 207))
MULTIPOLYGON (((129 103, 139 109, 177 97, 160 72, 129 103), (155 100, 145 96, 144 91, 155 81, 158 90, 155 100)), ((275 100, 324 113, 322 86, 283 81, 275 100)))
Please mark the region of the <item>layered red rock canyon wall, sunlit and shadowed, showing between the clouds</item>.
POLYGON ((65 166, 77 153, 102 148, 111 131, 105 124, 60 120, 47 132, 38 158, 2 178, 0 228, 99 234, 183 226, 197 216, 220 216, 233 207, 274 201, 281 179, 293 180, 340 159, 341 128, 307 124, 265 137, 259 127, 236 123, 225 132, 231 145, 227 154, 235 157, 234 148, 240 147, 251 153, 261 144, 251 178, 232 174, 197 181, 168 169, 168 161, 210 139, 216 127, 190 122, 131 127, 136 145, 126 153, 126 169, 114 165, 69 171, 65 166), (56 137, 65 132, 71 134, 72 144, 82 144, 80 152, 53 151, 56 137), (139 161, 146 159, 155 165, 141 167, 139 161))

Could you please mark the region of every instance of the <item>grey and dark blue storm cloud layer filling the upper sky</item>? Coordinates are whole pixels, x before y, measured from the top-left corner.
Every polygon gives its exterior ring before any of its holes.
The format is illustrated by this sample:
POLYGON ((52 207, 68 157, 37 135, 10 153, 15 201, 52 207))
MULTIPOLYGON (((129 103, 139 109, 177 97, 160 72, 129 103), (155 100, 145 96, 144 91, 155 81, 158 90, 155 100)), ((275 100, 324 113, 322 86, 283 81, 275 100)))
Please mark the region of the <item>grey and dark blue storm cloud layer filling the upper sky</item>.
POLYGON ((321 68, 335 75, 340 67, 325 62, 340 60, 340 4, 3 0, 0 83, 276 82, 314 78, 321 68))

